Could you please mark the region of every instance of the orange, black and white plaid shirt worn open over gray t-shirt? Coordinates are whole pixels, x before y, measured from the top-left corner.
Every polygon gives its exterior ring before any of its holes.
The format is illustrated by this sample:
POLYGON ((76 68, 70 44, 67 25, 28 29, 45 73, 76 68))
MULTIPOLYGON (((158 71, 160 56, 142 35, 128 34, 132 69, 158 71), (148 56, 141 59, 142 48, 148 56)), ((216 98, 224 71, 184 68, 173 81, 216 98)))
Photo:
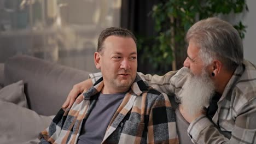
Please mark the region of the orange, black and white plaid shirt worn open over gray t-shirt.
MULTIPOLYGON (((103 85, 101 77, 84 93, 82 103, 73 104, 66 111, 61 109, 50 127, 39 134, 40 143, 77 143, 84 121, 96 103, 95 95, 103 85)), ((137 75, 102 143, 178 143, 175 114, 167 95, 148 87, 137 75)))

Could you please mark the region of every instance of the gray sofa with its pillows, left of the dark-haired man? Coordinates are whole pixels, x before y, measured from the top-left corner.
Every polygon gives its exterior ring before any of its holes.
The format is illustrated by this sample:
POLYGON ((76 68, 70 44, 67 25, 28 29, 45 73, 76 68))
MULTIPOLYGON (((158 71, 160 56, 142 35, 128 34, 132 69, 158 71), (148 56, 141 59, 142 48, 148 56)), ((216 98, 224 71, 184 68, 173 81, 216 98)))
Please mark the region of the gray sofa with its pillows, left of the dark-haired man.
POLYGON ((0 143, 37 143, 74 84, 88 75, 29 56, 0 64, 0 143))

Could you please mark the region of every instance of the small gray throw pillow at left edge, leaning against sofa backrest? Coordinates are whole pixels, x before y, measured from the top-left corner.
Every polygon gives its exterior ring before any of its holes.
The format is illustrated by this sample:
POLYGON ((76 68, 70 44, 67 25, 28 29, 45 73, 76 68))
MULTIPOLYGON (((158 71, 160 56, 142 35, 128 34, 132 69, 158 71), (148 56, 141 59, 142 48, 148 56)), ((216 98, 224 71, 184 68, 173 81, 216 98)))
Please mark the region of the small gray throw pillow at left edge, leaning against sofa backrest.
POLYGON ((21 80, 0 89, 0 100, 27 107, 24 82, 21 80))

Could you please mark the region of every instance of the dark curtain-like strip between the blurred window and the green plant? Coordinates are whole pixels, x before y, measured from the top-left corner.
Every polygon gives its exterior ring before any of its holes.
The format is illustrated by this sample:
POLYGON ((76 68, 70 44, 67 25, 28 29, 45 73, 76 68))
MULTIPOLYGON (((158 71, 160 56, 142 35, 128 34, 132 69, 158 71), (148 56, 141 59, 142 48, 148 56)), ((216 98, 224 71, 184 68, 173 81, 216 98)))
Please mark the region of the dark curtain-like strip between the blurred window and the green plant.
MULTIPOLYGON (((137 37, 155 37, 154 20, 150 11, 159 0, 122 0, 121 27, 130 29, 137 37)), ((153 52, 153 51, 152 51, 153 52)), ((138 71, 142 73, 154 73, 150 64, 141 61, 143 51, 138 51, 138 71)))

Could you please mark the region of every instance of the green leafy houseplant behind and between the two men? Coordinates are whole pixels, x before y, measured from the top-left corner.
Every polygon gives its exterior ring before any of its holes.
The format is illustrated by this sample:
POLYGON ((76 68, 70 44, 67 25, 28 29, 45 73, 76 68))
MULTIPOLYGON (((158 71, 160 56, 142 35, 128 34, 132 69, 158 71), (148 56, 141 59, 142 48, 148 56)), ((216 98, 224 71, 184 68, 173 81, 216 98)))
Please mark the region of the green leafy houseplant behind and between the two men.
MULTIPOLYGON (((198 20, 218 15, 248 11, 245 0, 168 0, 153 6, 150 15, 155 21, 156 37, 138 37, 141 61, 152 67, 149 71, 165 74, 182 67, 187 56, 184 37, 188 29, 198 20)), ((246 26, 240 21, 234 26, 245 37, 246 26)))

